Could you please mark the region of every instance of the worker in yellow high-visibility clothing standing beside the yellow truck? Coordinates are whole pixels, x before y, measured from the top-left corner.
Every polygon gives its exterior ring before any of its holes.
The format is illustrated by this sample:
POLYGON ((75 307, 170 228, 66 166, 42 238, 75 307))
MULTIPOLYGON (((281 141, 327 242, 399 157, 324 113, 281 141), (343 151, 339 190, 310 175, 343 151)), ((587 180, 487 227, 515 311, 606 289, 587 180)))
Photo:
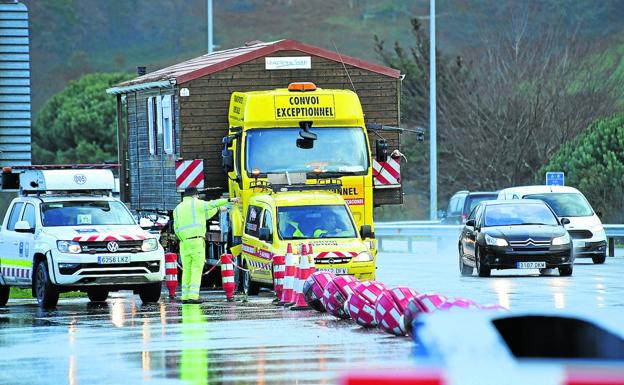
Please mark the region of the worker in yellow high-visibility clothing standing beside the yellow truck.
POLYGON ((182 202, 173 210, 173 229, 180 240, 182 256, 182 303, 201 303, 199 287, 206 260, 206 221, 219 207, 237 198, 203 201, 195 187, 184 190, 182 202))

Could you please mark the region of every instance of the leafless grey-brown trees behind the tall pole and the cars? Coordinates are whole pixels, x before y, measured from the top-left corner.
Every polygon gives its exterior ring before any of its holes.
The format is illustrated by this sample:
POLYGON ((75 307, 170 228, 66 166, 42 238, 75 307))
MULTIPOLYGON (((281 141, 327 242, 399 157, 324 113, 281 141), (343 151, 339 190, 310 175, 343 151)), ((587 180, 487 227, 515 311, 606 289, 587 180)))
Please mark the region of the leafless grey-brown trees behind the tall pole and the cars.
MULTIPOLYGON (((619 110, 624 84, 613 76, 620 63, 613 52, 606 57, 604 45, 580 41, 556 20, 536 23, 536 10, 525 3, 510 3, 506 12, 508 22, 484 29, 479 48, 456 58, 437 52, 441 201, 456 190, 531 183, 562 143, 619 110)), ((379 39, 376 48, 386 64, 406 74, 403 122, 426 127, 429 39, 418 20, 412 25, 411 49, 395 44, 388 51, 379 39)), ((411 164, 404 180, 422 192, 428 186, 427 151, 409 138, 405 144, 411 164)))

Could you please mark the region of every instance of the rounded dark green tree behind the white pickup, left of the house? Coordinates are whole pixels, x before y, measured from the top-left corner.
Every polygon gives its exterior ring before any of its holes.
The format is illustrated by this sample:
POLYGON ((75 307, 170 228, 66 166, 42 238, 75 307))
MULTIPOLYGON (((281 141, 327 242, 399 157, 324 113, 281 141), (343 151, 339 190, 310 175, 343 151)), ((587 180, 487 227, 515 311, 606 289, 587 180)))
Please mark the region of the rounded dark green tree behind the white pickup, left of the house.
POLYGON ((48 100, 33 126, 33 161, 50 164, 116 160, 116 101, 106 94, 106 89, 129 78, 122 73, 85 75, 48 100))

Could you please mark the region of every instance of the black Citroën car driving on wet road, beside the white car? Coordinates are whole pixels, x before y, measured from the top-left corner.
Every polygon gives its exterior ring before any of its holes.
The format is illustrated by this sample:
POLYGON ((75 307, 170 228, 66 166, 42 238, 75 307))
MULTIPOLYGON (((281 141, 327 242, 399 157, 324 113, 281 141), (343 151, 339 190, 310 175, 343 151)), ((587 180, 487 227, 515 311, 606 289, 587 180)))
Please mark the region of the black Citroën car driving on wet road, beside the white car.
POLYGON ((459 271, 489 277, 492 269, 552 269, 572 275, 570 235, 542 201, 532 199, 481 202, 459 238, 459 271))

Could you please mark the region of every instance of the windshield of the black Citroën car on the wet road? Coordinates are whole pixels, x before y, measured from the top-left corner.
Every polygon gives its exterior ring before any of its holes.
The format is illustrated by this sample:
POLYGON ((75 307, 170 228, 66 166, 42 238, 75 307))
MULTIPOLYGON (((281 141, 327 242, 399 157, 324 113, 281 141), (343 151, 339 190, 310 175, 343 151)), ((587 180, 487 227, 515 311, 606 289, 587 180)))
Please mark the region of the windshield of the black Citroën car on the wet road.
POLYGON ((543 204, 496 204, 485 208, 486 227, 514 225, 557 226, 557 218, 543 204))

